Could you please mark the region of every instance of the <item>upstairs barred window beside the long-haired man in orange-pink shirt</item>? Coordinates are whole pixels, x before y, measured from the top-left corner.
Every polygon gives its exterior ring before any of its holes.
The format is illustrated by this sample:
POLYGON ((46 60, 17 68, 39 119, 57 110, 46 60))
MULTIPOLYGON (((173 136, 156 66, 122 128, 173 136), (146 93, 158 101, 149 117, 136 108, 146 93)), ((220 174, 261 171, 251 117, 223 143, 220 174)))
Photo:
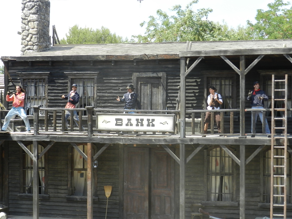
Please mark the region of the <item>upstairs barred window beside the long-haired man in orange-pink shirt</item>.
MULTIPOLYGON (((47 107, 46 84, 46 78, 22 79, 22 86, 25 90, 24 110, 27 115, 33 114, 32 106, 47 107)), ((40 114, 43 115, 44 112, 40 111, 40 114)))

